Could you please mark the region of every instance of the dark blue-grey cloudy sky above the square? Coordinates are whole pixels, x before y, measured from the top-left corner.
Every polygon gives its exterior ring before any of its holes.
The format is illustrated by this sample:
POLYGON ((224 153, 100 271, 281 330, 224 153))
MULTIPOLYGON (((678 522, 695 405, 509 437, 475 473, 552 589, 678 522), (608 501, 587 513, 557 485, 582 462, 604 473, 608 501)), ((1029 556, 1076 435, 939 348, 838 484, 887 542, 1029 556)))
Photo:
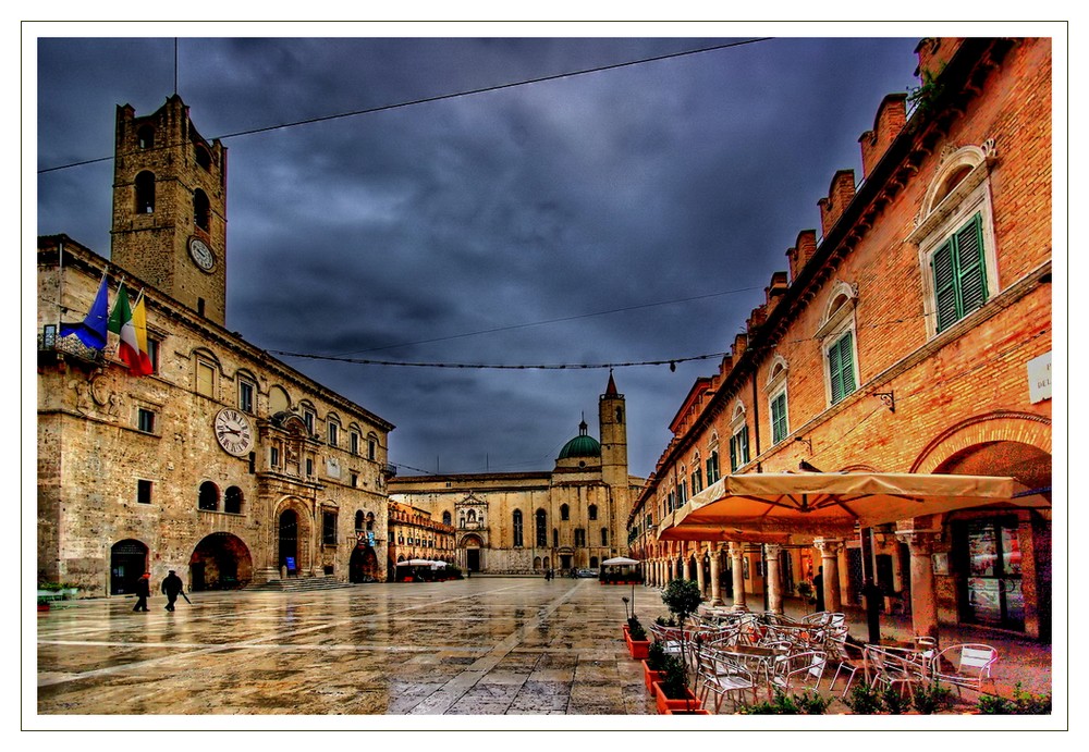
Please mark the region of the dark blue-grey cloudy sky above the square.
MULTIPOLYGON (((117 104, 166 101, 174 38, 50 30, 36 40, 37 231, 109 256, 112 162, 52 168, 111 157, 117 104)), ((639 476, 798 232, 819 227, 833 173, 860 177, 858 137, 886 94, 918 84, 921 36, 357 30, 178 39, 176 90, 229 149, 228 328, 322 357, 613 365, 639 476), (705 355, 675 372, 628 365, 705 355)), ((396 424, 402 474, 550 469, 584 414, 597 435, 609 379, 280 357, 396 424)))

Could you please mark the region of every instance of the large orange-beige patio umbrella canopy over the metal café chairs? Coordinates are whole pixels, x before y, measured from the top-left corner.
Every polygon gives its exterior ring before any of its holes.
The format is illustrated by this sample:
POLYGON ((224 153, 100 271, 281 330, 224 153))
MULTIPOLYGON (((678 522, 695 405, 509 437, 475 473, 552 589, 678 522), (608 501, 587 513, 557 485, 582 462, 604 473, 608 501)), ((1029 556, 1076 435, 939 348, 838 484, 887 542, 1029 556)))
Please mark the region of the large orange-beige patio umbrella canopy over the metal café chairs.
MULTIPOLYGON (((756 472, 726 476, 665 519, 659 538, 682 528, 720 534, 794 533, 845 537, 855 527, 1010 504, 1049 508, 1013 478, 880 472, 756 472)), ((713 539, 712 539, 713 540, 713 539)), ((747 539, 745 539, 747 540, 747 539)))

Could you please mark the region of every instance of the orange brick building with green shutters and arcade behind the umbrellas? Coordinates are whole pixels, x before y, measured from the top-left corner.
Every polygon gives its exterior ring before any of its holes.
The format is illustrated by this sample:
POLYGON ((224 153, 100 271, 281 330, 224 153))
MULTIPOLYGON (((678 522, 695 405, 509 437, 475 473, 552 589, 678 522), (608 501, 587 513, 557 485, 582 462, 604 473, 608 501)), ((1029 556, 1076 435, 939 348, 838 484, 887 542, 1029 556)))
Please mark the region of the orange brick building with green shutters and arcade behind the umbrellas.
POLYGON ((872 571, 920 633, 969 622, 1045 639, 1050 510, 903 520, 823 552, 735 542, 727 556, 654 534, 726 472, 1008 476, 1050 496, 1050 40, 925 39, 917 52, 914 110, 884 99, 859 139, 861 180, 833 176, 820 237, 798 234, 788 273, 678 410, 628 520, 632 553, 652 580, 689 576, 712 600, 736 596, 735 581, 759 597, 767 571, 791 592, 832 556, 845 603, 872 571))

